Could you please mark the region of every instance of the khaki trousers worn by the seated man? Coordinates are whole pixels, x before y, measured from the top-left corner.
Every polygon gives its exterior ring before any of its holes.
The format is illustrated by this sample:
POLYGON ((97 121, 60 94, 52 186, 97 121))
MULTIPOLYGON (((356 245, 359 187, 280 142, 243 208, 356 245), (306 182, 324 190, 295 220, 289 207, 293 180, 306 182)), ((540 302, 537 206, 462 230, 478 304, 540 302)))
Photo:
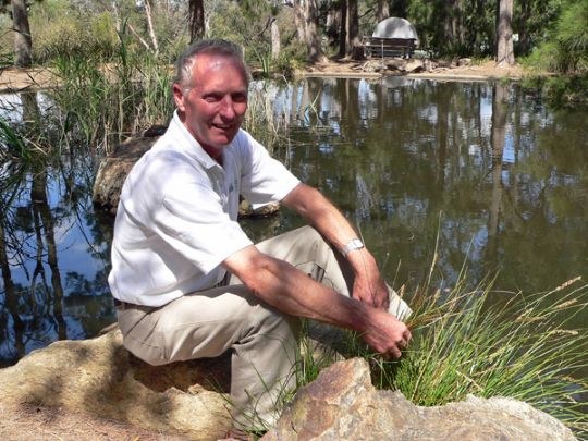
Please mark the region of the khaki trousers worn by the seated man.
MULTIPOLYGON (((256 246, 350 295, 351 268, 316 230, 304 226, 256 246)), ((391 294, 392 313, 411 314, 392 290, 391 294)), ((258 301, 234 275, 226 286, 187 294, 159 308, 119 308, 118 320, 124 346, 151 365, 216 357, 232 350, 232 416, 237 427, 273 426, 280 395, 296 385, 298 319, 258 301)))

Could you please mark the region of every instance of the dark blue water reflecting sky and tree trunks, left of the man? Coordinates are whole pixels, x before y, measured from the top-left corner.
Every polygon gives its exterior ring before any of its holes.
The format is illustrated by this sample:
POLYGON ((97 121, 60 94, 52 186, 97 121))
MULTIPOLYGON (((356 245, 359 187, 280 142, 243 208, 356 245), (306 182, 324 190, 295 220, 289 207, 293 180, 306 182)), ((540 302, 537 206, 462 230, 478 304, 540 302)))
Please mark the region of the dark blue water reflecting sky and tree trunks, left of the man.
POLYGON ((0 172, 0 365, 112 322, 108 231, 93 216, 93 161, 60 158, 0 172), (97 307, 99 305, 99 307, 97 307))

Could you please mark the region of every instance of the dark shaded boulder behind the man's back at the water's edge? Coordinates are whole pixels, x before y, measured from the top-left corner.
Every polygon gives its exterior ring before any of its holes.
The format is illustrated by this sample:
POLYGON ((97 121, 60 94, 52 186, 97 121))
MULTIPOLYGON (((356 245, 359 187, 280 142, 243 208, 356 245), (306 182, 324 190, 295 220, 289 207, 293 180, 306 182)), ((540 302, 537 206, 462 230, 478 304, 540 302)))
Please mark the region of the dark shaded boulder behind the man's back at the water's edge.
MULTIPOLYGON (((111 215, 117 215, 126 175, 164 131, 163 126, 154 126, 138 136, 131 137, 114 147, 113 151, 100 162, 94 181, 93 203, 95 206, 111 215)), ((254 210, 247 200, 242 200, 238 216, 241 218, 271 216, 279 210, 279 204, 268 204, 254 210)))

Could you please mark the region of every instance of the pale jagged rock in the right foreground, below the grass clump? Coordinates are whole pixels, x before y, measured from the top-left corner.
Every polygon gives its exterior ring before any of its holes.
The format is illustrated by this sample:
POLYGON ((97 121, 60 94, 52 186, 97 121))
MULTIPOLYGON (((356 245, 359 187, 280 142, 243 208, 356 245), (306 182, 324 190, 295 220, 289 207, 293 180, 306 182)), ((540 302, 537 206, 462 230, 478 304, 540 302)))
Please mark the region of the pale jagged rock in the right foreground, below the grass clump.
POLYGON ((264 441, 290 440, 575 440, 555 418, 511 399, 468 396, 437 407, 377 391, 368 364, 338 362, 298 391, 264 441))

